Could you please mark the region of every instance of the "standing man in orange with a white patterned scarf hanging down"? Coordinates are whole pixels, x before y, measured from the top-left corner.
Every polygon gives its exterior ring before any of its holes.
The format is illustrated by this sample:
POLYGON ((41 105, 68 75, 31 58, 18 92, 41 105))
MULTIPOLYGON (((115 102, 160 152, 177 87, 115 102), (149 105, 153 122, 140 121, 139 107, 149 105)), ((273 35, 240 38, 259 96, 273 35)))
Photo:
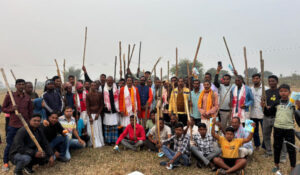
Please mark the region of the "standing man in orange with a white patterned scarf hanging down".
POLYGON ((133 86, 132 77, 127 77, 126 86, 120 89, 119 108, 121 113, 120 124, 123 127, 130 124, 129 116, 140 114, 140 94, 138 89, 133 86))

